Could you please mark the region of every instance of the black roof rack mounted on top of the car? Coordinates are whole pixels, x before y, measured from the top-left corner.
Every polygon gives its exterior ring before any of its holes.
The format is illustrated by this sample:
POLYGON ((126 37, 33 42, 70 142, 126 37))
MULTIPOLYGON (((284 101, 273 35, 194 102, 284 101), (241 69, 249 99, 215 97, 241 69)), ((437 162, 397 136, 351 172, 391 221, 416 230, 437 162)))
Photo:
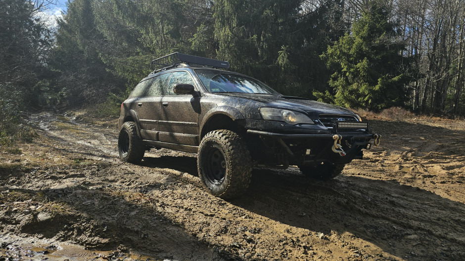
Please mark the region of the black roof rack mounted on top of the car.
POLYGON ((175 67, 180 64, 188 64, 192 66, 207 66, 221 69, 229 68, 229 62, 226 61, 208 59, 179 52, 165 55, 150 62, 150 66, 152 70, 155 70, 155 72, 175 67))

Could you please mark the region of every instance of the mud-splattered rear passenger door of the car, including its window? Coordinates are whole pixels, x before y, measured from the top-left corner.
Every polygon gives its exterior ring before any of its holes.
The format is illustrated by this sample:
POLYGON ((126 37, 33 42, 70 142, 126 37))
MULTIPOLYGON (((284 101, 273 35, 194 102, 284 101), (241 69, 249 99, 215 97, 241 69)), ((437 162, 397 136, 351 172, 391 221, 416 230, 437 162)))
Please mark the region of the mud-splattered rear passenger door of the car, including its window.
POLYGON ((144 97, 138 101, 140 136, 144 140, 158 141, 160 104, 169 76, 167 73, 150 78, 144 97))

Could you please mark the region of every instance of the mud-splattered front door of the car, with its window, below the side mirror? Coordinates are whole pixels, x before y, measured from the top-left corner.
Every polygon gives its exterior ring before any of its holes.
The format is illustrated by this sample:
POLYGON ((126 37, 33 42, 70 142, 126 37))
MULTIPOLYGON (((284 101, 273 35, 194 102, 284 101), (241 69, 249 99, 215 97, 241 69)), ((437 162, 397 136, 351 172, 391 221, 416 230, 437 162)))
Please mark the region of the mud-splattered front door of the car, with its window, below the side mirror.
POLYGON ((177 95, 173 91, 176 83, 194 83, 187 71, 178 71, 171 74, 165 88, 165 95, 160 106, 159 138, 161 142, 198 145, 198 119, 200 114, 200 97, 191 94, 177 95))

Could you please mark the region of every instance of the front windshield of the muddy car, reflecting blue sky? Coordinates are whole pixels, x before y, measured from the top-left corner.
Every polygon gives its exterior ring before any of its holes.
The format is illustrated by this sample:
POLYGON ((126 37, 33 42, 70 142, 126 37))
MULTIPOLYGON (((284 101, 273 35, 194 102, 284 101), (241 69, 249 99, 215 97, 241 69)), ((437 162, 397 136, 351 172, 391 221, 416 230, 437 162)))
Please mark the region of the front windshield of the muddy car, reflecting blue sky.
POLYGON ((244 75, 212 70, 195 70, 203 86, 210 93, 242 92, 279 95, 264 83, 244 75))

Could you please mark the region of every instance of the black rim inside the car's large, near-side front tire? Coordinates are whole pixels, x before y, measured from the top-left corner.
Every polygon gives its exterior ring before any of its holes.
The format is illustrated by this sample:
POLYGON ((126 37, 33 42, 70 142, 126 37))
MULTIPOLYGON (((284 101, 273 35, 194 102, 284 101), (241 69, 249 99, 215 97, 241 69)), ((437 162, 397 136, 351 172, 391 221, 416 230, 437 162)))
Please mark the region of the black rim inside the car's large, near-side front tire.
POLYGON ((223 152, 216 146, 206 153, 204 163, 205 178, 213 186, 220 186, 226 177, 226 159, 223 152))

